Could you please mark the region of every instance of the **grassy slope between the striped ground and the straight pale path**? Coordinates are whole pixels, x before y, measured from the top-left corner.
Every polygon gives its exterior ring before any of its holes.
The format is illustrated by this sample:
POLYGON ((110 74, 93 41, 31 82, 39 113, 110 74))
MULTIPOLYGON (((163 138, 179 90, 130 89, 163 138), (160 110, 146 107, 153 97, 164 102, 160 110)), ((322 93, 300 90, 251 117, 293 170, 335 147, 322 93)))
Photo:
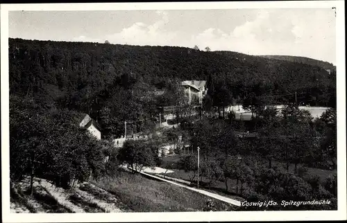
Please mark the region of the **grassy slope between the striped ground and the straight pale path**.
POLYGON ((209 199, 215 205, 214 211, 237 210, 226 202, 124 170, 93 183, 119 197, 135 212, 205 211, 209 199))

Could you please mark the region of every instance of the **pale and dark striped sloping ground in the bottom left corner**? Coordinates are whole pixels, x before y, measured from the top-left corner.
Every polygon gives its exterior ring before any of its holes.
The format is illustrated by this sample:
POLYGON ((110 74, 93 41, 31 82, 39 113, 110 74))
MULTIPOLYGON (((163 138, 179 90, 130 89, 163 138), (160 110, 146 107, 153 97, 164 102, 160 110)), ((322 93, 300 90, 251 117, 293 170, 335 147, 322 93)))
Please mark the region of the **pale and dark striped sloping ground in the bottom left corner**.
POLYGON ((130 211, 118 197, 92 184, 77 188, 56 188, 49 181, 35 179, 33 196, 29 192, 29 178, 11 184, 11 213, 115 213, 130 211))

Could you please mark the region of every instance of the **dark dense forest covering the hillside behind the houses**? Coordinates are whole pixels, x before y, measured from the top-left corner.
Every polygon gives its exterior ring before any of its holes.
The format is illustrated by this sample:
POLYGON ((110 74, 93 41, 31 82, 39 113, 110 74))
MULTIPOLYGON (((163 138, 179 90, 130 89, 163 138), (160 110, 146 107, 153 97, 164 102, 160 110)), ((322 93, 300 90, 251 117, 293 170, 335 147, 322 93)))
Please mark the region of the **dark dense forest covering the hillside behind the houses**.
POLYGON ((90 114, 103 136, 119 136, 124 121, 142 130, 158 107, 175 105, 182 80, 213 80, 222 89, 216 96, 227 92, 232 103, 294 102, 296 92, 298 103, 335 107, 335 72, 242 53, 9 39, 9 60, 11 96, 90 114), (155 97, 160 89, 164 95, 155 97))

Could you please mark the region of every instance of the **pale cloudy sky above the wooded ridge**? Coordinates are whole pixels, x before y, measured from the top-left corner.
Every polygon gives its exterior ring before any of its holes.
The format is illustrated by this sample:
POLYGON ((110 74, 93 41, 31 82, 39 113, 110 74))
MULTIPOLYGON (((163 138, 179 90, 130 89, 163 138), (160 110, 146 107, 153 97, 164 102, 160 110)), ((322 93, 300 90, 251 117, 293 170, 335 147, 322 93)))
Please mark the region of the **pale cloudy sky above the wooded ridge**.
POLYGON ((111 44, 206 46, 251 55, 296 55, 335 64, 332 8, 10 11, 9 37, 111 44))

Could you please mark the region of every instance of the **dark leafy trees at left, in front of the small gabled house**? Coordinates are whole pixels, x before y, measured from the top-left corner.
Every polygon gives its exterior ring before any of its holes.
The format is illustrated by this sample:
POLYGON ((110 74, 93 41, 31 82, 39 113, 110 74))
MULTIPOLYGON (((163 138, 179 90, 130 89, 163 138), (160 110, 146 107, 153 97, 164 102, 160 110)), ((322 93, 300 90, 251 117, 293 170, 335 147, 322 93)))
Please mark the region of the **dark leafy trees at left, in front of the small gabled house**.
POLYGON ((42 108, 30 98, 10 97, 10 177, 44 177, 57 186, 85 181, 105 172, 103 150, 78 127, 76 113, 42 108))

